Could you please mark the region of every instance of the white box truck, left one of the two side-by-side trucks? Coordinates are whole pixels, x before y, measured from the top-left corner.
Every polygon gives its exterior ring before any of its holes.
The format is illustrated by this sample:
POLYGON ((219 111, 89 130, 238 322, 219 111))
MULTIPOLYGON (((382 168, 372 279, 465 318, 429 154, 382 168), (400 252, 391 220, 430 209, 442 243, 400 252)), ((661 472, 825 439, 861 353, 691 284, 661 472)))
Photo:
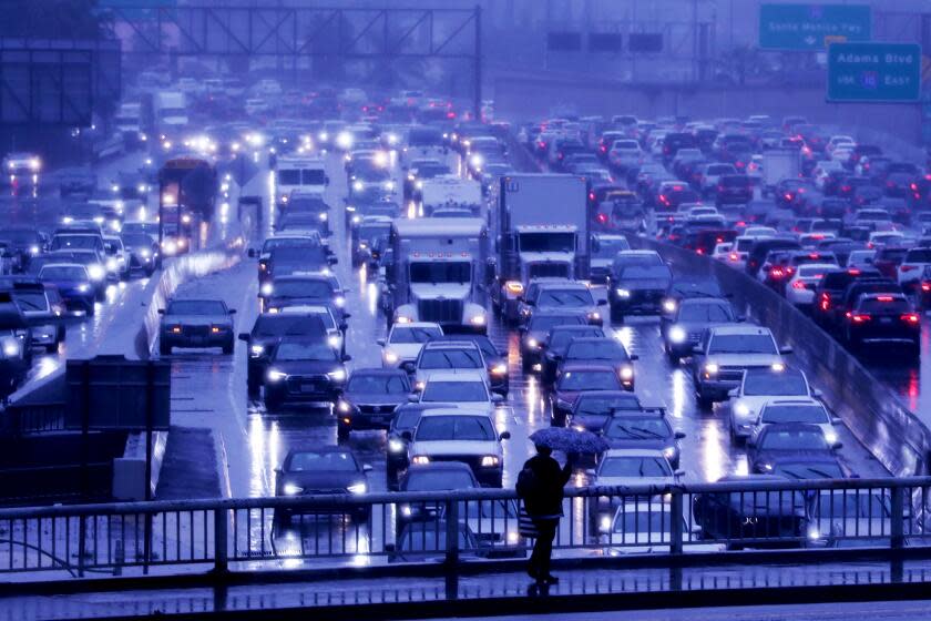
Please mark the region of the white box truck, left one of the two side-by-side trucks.
POLYGON ((393 322, 437 322, 444 332, 485 334, 488 245, 488 228, 477 217, 396 218, 393 322))

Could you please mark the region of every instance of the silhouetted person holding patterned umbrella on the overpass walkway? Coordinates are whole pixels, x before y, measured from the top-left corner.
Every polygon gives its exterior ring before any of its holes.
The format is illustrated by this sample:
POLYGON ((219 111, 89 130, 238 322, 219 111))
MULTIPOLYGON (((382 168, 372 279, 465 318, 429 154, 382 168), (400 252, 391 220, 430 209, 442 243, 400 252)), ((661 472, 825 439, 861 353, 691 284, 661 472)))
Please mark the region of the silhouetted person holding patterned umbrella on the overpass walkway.
POLYGON ((521 530, 524 536, 534 538, 526 572, 538 584, 549 586, 559 582, 550 573, 550 559, 553 554, 553 539, 563 515, 563 488, 572 475, 577 454, 594 451, 598 448, 595 446, 598 440, 604 440, 589 431, 565 428, 541 429, 530 439, 536 448, 536 455, 523 465, 516 485, 518 496, 523 500, 526 512, 526 517, 521 516, 521 530), (553 459, 553 449, 565 451, 565 466, 560 467, 559 461, 553 459))

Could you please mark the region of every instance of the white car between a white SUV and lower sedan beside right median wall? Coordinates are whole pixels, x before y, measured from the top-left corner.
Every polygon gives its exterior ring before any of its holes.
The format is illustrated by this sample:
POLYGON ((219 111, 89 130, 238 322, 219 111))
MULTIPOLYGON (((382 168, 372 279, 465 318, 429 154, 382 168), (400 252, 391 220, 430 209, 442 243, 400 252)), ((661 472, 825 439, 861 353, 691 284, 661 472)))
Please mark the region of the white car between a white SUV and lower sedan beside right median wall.
POLYGON ((726 409, 730 439, 737 444, 750 437, 760 408, 774 399, 820 396, 821 393, 811 388, 808 378, 798 369, 748 369, 737 388, 728 393, 726 409))

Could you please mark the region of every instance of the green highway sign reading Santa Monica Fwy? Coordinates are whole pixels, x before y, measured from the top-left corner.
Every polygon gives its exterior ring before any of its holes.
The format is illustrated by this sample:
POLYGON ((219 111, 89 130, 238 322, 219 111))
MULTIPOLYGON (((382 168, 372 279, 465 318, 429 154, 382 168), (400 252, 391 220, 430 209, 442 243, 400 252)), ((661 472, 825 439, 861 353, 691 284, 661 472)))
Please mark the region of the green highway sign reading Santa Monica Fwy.
POLYGON ((869 41, 867 4, 761 4, 764 50, 823 50, 831 41, 869 41))

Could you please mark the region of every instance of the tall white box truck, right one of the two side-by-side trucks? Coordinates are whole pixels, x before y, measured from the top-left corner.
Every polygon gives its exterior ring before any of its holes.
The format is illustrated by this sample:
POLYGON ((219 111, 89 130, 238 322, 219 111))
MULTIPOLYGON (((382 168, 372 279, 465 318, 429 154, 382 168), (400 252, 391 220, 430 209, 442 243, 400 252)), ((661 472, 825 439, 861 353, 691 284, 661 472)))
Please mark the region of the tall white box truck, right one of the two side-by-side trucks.
POLYGON ((587 278, 590 258, 589 184, 572 174, 502 176, 491 202, 494 240, 495 312, 516 323, 518 306, 531 278, 587 278))

